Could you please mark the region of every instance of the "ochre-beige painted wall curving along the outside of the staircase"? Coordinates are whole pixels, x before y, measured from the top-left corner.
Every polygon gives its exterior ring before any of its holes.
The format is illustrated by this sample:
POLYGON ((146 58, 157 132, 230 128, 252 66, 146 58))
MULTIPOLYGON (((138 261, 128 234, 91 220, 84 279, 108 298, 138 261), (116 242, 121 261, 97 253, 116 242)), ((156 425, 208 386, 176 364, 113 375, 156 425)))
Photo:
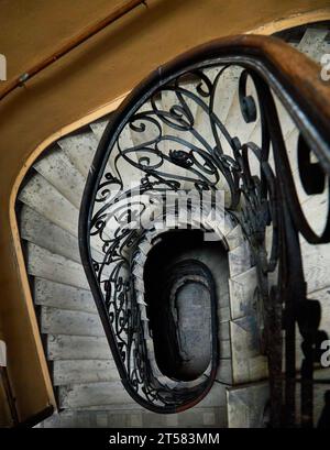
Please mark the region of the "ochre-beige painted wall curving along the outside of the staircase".
MULTIPOLYGON (((7 56, 9 78, 122 3, 2 0, 0 53, 7 56)), ((0 103, 0 315, 22 419, 54 402, 13 215, 15 191, 35 149, 41 151, 47 138, 111 103, 156 66, 197 44, 330 18, 329 0, 147 0, 147 4, 0 103)))

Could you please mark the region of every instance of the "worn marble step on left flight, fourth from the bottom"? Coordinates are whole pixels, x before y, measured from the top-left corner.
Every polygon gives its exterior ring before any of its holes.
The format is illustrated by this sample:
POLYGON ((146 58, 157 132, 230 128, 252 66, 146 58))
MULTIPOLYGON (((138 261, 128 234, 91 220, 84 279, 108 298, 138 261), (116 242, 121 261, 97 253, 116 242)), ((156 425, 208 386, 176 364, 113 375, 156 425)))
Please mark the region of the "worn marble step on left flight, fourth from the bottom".
POLYGON ((99 316, 85 311, 70 311, 43 307, 41 331, 44 334, 76 334, 105 337, 99 316))

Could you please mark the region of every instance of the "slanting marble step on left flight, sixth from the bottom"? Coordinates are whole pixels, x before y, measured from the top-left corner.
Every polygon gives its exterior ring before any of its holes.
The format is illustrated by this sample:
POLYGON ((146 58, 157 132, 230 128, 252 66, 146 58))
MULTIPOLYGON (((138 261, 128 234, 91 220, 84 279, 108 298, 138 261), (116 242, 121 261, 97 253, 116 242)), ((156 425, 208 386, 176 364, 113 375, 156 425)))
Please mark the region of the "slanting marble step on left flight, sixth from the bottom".
POLYGON ((28 243, 28 272, 30 275, 89 290, 81 264, 31 242, 28 243))

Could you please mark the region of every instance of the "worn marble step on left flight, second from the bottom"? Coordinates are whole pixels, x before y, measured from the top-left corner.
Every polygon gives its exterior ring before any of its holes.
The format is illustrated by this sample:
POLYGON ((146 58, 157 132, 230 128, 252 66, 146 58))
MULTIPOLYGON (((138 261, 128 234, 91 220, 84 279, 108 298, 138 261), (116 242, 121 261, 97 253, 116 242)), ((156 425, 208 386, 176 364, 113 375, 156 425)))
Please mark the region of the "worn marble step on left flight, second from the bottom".
POLYGON ((65 360, 53 363, 55 386, 119 380, 120 376, 113 360, 65 360))

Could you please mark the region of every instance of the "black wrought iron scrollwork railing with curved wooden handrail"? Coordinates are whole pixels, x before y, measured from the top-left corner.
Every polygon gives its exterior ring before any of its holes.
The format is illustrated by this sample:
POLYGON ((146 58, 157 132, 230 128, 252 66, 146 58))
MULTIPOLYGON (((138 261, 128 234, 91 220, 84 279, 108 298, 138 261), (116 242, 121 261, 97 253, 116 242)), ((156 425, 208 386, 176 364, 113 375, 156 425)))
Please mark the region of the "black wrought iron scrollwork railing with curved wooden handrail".
POLYGON ((134 204, 135 195, 142 191, 150 200, 155 193, 223 189, 224 213, 241 226, 257 270, 271 424, 297 424, 300 383, 301 424, 312 425, 314 367, 327 334, 319 330, 319 301, 307 298, 299 238, 328 243, 330 215, 328 206, 317 234, 300 205, 297 179, 310 197, 327 189, 329 124, 330 87, 319 79, 317 65, 278 40, 252 35, 211 42, 160 67, 113 113, 81 202, 80 253, 122 383, 138 403, 158 413, 194 406, 212 385, 217 351, 207 376, 193 386, 170 386, 153 370, 147 311, 132 275, 132 255, 145 230, 128 224, 146 207, 134 204), (226 102, 221 85, 229 78, 240 107, 234 132, 216 107, 226 102), (165 96, 166 107, 160 101, 165 96), (285 141, 284 111, 298 130, 295 147, 285 141), (128 193, 130 202, 122 202, 128 193), (296 325, 304 341, 299 380, 296 325))

